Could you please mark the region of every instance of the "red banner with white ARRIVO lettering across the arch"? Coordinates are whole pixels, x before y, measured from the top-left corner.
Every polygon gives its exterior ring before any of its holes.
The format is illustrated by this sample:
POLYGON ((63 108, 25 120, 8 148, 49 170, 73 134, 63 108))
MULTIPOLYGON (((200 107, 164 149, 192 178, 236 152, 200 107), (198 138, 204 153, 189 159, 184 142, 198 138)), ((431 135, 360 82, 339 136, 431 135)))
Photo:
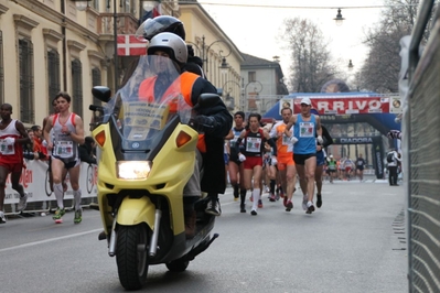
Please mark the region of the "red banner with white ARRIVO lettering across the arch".
POLYGON ((366 96, 303 96, 294 99, 282 99, 280 111, 286 105, 293 106, 293 112, 301 112, 302 98, 310 98, 312 108, 320 115, 351 115, 351 113, 388 113, 389 98, 366 96))

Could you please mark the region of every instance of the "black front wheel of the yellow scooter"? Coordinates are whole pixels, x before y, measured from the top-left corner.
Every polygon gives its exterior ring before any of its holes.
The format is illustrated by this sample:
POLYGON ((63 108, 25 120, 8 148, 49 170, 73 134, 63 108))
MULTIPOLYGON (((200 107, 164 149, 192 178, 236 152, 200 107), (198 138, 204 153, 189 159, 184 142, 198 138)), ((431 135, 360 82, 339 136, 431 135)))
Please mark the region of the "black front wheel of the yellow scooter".
POLYGON ((148 230, 146 225, 119 226, 116 263, 120 284, 127 290, 139 290, 147 282, 148 230))

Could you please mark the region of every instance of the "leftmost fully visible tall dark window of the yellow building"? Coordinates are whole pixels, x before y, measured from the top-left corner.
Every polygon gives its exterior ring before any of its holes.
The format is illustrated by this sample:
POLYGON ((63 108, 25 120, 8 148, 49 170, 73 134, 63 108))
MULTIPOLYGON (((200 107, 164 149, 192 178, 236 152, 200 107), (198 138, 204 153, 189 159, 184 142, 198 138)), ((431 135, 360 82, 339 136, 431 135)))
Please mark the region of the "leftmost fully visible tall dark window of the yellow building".
POLYGON ((33 45, 29 39, 19 40, 20 120, 34 123, 33 45))

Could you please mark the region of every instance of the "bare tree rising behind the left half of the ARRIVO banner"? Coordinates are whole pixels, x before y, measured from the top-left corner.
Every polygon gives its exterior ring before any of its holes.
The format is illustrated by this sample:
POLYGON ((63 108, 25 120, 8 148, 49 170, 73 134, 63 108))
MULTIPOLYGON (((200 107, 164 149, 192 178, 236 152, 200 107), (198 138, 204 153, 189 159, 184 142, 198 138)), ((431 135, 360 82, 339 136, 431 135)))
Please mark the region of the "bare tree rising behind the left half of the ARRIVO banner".
POLYGON ((304 19, 285 21, 283 36, 292 54, 290 85, 297 93, 316 93, 337 73, 331 65, 331 54, 323 33, 304 19))

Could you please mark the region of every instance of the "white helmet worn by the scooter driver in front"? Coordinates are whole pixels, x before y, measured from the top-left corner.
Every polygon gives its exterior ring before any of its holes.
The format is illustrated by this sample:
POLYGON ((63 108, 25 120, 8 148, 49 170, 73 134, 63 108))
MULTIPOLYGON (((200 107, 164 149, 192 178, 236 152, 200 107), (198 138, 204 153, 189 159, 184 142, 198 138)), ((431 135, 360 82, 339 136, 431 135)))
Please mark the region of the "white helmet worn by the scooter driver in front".
POLYGON ((187 47, 185 42, 173 33, 160 33, 154 35, 148 46, 148 55, 154 54, 155 51, 167 52, 170 58, 179 65, 187 61, 187 47))

